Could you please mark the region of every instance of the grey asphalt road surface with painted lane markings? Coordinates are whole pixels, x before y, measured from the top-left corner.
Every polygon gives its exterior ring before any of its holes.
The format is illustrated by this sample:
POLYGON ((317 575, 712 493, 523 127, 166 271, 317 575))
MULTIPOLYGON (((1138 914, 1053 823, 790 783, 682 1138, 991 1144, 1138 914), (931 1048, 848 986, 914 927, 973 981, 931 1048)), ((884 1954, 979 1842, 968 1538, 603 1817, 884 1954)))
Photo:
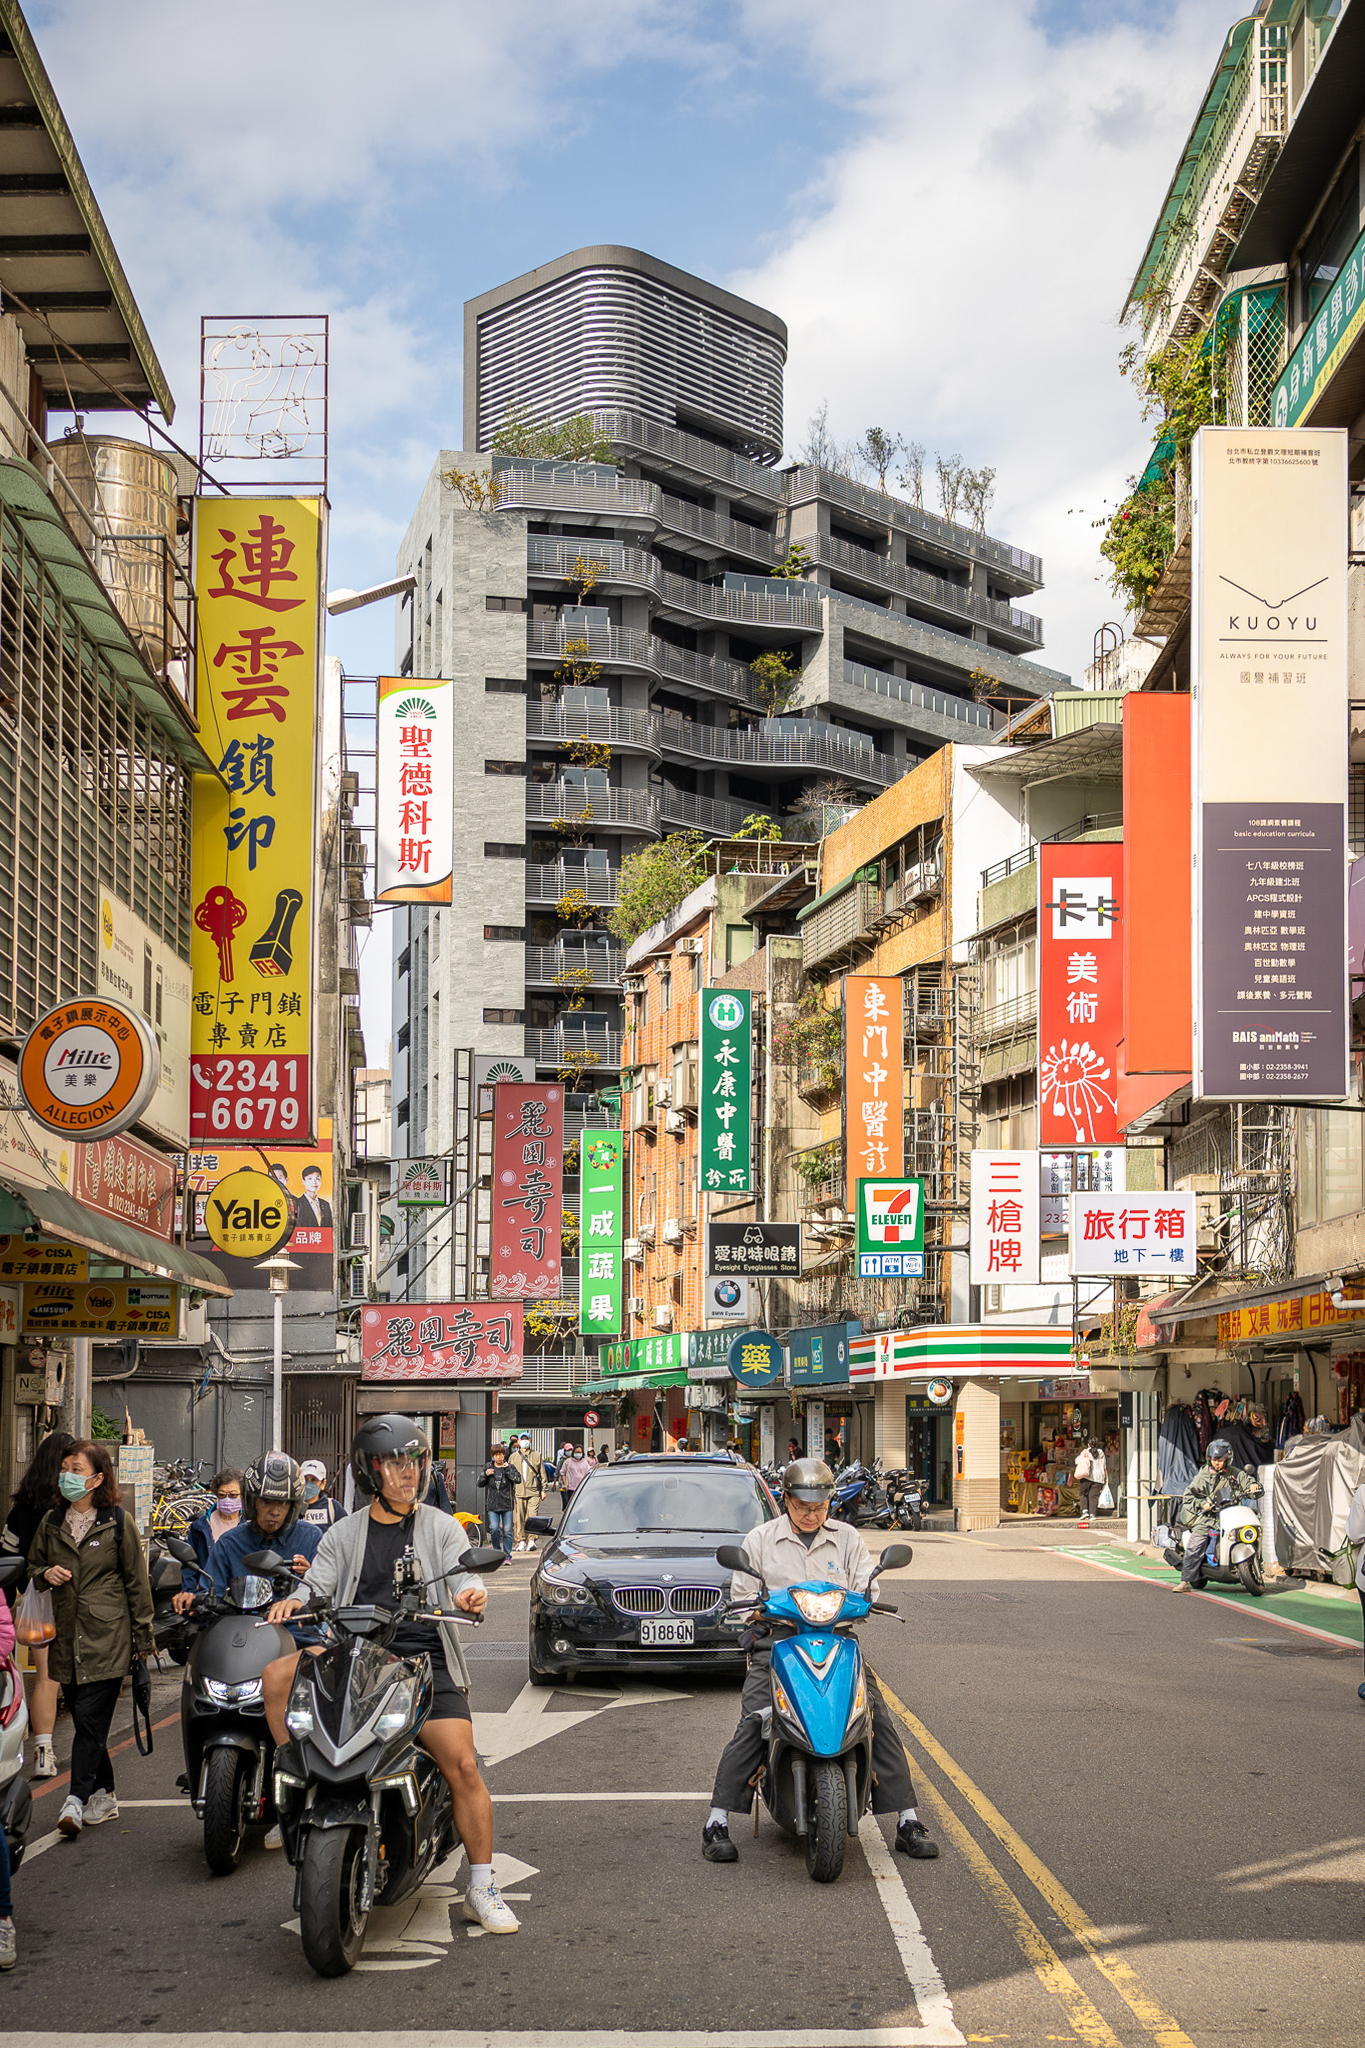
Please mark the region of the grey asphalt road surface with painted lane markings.
POLYGON ((753 1839, 739 1819, 739 1866, 704 1864, 737 1688, 532 1692, 530 1561, 514 1559, 471 1669, 520 1935, 469 1933, 446 1864, 372 1917, 352 1976, 315 1978, 278 1853, 254 1845, 209 1876, 172 1722, 153 1757, 115 1759, 117 1823, 53 1837, 61 1786, 43 1788, 0 2042, 1355 2048, 1359 1647, 1283 1626, 1273 1599, 1175 1597, 1058 1540, 919 1536, 884 1581, 905 1624, 864 1632, 909 1716, 935 1864, 892 1858, 864 1821, 841 1880, 817 1886, 769 1821, 753 1839))

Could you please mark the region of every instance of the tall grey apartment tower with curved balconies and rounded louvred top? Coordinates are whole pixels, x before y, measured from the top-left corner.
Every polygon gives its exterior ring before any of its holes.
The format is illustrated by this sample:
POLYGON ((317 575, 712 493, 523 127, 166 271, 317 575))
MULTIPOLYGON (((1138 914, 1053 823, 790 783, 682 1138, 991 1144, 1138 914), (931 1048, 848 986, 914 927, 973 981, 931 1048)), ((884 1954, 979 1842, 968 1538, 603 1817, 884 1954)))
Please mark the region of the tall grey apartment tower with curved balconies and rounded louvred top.
MULTIPOLYGON (((397 1155, 452 1149, 465 1049, 563 1073, 583 1114, 616 1090, 630 852, 755 815, 814 848, 1066 684, 1017 602, 1036 555, 780 467, 784 354, 774 313, 639 250, 467 307, 467 449, 436 459, 397 555, 397 668, 454 678, 463 739, 454 903, 393 920, 397 1155), (583 414, 591 461, 510 453, 528 420, 583 414), (767 700, 763 655, 792 678, 767 700)), ((448 1278, 438 1255, 420 1284, 448 1278)))

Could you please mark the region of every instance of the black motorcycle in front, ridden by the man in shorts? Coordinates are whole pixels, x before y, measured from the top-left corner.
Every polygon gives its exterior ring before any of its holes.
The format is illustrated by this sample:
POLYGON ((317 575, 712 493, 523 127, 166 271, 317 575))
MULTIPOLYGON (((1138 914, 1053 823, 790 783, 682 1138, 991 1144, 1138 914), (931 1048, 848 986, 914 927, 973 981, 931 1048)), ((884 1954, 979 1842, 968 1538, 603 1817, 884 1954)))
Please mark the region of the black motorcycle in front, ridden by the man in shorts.
MULTIPOLYGON (((501 1550, 469 1550, 465 1571, 497 1571, 501 1550)), ((256 1552, 252 1571, 282 1559, 256 1552)), ((411 1561, 393 1569, 393 1606, 313 1608, 327 1624, 319 1657, 303 1657, 289 1696, 291 1747, 274 1761, 274 1804, 295 1866, 303 1954, 319 1976, 360 1960, 375 1905, 411 1896, 458 1845, 450 1788, 417 1735, 432 1706, 428 1657, 389 1649, 403 1622, 475 1616, 426 1604, 411 1561)))

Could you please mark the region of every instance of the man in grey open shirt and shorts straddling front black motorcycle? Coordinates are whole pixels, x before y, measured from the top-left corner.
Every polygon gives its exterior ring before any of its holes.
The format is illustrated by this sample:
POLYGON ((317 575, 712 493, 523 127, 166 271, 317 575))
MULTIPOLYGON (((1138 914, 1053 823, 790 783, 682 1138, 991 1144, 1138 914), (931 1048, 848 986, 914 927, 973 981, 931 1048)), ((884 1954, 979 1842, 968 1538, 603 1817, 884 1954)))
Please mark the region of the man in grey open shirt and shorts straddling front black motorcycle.
MULTIPOLYGON (((356 1430, 350 1468, 358 1493, 370 1497, 370 1507, 368 1513, 356 1509, 323 1534, 309 1571, 309 1595, 338 1606, 393 1608, 393 1569, 399 1561, 413 1559, 428 1587, 446 1583, 463 1614, 483 1614, 483 1581, 460 1563, 469 1550, 463 1526, 454 1516, 422 1505, 432 1473, 432 1446, 422 1430, 405 1415, 370 1415, 356 1430)), ((301 1604, 276 1602, 270 1620, 287 1622, 301 1604)), ((422 1724, 420 1743, 436 1757, 450 1786, 454 1825, 469 1855, 465 1919, 477 1921, 487 1933, 516 1933, 520 1921, 493 1884, 493 1802, 479 1776, 469 1692, 448 1663, 446 1628, 409 1622, 389 1647, 397 1657, 432 1659, 432 1712, 422 1724)), ((266 1665, 264 1675, 266 1720, 280 1749, 289 1745, 284 1710, 297 1665, 297 1657, 280 1657, 266 1665)))

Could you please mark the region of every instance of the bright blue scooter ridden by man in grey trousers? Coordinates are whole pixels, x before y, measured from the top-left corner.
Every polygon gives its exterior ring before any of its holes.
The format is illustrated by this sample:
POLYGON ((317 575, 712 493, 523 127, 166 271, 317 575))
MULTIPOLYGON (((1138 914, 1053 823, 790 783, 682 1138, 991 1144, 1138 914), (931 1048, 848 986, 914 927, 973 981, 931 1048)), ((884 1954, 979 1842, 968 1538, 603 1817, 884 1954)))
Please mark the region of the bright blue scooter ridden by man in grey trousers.
MULTIPOLYGON (((911 1556, 909 1542, 886 1544, 878 1571, 898 1571, 911 1556)), ((720 1544, 716 1563, 757 1577, 739 1544, 720 1544)), ((763 1804, 786 1835, 804 1841, 806 1874, 833 1884, 872 1798, 872 1708, 853 1626, 898 1610, 829 1579, 776 1593, 763 1585, 759 1604, 731 1602, 737 1608, 755 1612, 755 1640, 772 1647, 763 1804)))

